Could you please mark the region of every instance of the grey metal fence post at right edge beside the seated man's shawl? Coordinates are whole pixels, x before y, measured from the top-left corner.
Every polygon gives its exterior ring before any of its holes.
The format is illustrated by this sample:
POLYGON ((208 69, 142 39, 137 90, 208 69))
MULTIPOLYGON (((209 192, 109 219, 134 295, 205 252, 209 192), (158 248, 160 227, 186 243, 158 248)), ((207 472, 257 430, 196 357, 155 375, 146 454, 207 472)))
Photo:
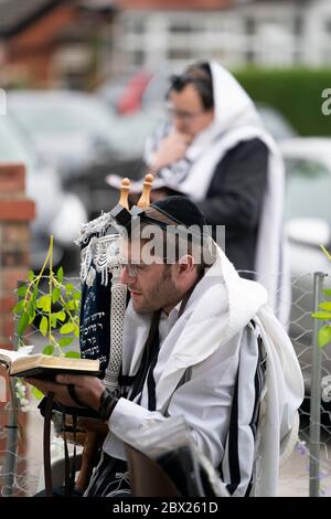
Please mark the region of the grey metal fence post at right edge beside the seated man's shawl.
MULTIPOLYGON (((325 274, 313 274, 313 311, 322 303, 323 279, 325 274)), ((310 426, 309 426, 309 496, 320 495, 320 435, 321 435, 321 366, 322 352, 318 347, 318 332, 322 327, 320 319, 313 321, 312 370, 310 386, 310 426)))

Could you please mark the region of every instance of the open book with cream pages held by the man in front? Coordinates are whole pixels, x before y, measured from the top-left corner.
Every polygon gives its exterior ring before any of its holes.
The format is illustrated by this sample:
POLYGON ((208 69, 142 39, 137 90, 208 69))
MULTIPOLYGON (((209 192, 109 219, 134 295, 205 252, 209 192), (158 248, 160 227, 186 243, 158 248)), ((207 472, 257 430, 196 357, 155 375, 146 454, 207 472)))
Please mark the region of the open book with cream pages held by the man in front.
POLYGON ((26 350, 0 349, 0 364, 4 364, 10 375, 53 379, 57 373, 99 375, 99 361, 70 357, 51 357, 43 353, 26 354, 26 350))

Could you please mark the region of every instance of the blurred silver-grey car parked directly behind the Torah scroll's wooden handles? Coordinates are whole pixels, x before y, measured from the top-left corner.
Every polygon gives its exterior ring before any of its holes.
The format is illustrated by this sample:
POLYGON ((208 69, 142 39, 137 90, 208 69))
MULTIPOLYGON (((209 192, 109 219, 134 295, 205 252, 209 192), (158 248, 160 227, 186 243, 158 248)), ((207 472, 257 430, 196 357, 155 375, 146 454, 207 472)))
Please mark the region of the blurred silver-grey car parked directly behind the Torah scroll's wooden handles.
POLYGON ((60 169, 65 189, 78 195, 88 219, 117 201, 107 174, 142 173, 145 140, 160 120, 158 110, 120 117, 93 95, 76 92, 11 92, 8 108, 39 152, 60 169))

